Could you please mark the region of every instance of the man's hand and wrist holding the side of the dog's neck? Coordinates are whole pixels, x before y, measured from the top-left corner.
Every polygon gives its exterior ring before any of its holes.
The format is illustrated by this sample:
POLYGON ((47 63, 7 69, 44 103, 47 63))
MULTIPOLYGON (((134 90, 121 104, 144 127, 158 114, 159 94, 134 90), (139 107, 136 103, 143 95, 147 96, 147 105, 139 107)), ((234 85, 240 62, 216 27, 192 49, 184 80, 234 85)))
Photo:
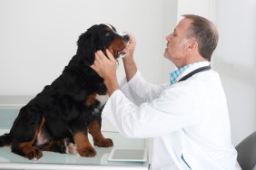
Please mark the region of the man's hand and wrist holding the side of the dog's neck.
POLYGON ((116 78, 116 60, 113 54, 106 50, 108 58, 102 51, 95 52, 95 61, 91 66, 104 80, 109 95, 112 95, 114 90, 119 90, 119 85, 116 78))

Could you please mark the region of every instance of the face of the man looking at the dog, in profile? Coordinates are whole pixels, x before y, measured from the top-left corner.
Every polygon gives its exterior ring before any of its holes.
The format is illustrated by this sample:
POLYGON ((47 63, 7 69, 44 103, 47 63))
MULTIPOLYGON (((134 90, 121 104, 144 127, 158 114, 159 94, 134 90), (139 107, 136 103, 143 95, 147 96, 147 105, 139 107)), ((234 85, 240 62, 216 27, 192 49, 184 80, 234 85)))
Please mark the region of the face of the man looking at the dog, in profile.
POLYGON ((164 57, 172 61, 177 67, 179 62, 186 56, 186 44, 188 42, 186 33, 191 23, 192 21, 189 19, 182 19, 175 27, 173 33, 166 37, 167 44, 164 57))

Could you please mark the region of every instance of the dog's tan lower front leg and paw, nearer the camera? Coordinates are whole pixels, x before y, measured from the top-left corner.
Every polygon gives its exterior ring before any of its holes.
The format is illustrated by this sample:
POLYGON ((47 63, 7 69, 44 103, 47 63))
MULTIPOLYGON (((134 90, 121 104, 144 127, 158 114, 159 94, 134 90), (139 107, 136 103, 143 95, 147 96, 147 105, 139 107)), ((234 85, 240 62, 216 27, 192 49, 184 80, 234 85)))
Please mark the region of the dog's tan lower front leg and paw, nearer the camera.
POLYGON ((94 157, 96 155, 94 147, 90 144, 88 136, 84 132, 76 132, 74 134, 74 141, 80 156, 94 157))

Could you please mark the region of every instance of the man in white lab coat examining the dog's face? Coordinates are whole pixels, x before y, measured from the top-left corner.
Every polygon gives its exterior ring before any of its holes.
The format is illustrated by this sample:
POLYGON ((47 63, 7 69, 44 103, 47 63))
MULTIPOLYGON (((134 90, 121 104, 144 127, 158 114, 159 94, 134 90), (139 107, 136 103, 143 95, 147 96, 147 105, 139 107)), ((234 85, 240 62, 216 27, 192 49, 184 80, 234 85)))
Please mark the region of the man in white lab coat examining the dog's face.
POLYGON ((201 16, 183 17, 166 37, 164 57, 178 68, 170 83, 153 85, 143 79, 133 60, 136 41, 131 33, 123 58, 126 80, 120 86, 113 55, 107 51, 108 60, 103 52, 95 53, 91 67, 110 95, 103 116, 123 136, 153 137, 153 170, 241 169, 231 145, 222 82, 210 67, 218 31, 201 16))

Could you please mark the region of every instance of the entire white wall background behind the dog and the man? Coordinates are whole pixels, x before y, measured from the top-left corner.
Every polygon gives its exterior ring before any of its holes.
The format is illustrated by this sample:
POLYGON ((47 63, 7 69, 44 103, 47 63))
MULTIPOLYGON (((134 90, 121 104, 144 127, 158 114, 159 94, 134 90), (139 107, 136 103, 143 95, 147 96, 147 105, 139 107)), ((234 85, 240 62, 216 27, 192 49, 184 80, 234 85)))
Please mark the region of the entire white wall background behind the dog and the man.
MULTIPOLYGON (((165 36, 182 14, 219 28, 213 68, 226 91, 232 142, 256 129, 255 0, 0 0, 0 96, 34 96, 61 74, 76 41, 93 24, 113 24, 137 39, 135 60, 146 80, 169 80, 165 36)), ((122 61, 118 78, 123 78, 122 61)))

